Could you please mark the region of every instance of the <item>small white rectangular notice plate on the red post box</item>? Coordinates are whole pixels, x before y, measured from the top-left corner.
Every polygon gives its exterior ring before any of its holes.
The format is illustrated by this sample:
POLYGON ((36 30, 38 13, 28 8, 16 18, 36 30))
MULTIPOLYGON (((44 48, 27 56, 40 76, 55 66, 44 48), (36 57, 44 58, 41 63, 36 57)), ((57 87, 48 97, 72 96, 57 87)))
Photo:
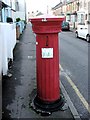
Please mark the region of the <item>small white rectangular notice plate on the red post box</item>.
POLYGON ((42 48, 42 58, 53 58, 53 48, 42 48))

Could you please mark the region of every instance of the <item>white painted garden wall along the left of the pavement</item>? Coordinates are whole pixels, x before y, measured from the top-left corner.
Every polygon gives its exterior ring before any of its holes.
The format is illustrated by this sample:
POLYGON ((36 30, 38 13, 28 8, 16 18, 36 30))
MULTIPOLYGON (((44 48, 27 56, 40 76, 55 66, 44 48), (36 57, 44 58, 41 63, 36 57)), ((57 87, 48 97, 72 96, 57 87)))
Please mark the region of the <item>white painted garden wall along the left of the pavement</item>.
POLYGON ((15 23, 0 23, 0 72, 8 73, 8 58, 13 60, 13 49, 16 45, 15 23))

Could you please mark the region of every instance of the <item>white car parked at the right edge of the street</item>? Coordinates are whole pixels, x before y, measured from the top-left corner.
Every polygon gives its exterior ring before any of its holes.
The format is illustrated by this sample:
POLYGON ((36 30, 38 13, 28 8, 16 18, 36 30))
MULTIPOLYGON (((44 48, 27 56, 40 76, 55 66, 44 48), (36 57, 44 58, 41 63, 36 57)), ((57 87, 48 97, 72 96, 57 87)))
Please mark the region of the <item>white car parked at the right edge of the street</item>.
POLYGON ((80 37, 85 39, 87 42, 90 42, 90 33, 88 31, 88 26, 80 25, 75 31, 76 38, 80 37))

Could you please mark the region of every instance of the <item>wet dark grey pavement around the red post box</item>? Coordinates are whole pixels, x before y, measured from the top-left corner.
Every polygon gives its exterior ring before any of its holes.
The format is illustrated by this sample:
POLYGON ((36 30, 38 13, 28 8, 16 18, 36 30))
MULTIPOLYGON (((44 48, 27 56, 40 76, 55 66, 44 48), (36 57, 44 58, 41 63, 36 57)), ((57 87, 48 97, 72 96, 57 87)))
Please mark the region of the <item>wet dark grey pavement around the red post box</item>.
MULTIPOLYGON (((36 95, 36 41, 30 24, 14 49, 14 61, 9 66, 11 76, 2 78, 2 117, 3 119, 59 118, 75 120, 79 115, 67 92, 61 84, 65 105, 49 116, 42 116, 31 108, 36 95)), ((60 79, 63 79, 61 75, 60 79)))

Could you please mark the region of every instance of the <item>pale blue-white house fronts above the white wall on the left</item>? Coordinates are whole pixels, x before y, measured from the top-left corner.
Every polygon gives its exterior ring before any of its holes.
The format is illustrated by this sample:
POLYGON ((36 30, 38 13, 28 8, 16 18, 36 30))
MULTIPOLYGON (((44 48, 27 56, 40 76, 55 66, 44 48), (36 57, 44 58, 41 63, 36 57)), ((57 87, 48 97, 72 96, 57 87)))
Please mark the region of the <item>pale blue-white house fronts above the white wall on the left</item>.
POLYGON ((13 22, 20 17, 26 19, 25 0, 0 0, 0 21, 7 22, 7 17, 11 17, 13 22))

